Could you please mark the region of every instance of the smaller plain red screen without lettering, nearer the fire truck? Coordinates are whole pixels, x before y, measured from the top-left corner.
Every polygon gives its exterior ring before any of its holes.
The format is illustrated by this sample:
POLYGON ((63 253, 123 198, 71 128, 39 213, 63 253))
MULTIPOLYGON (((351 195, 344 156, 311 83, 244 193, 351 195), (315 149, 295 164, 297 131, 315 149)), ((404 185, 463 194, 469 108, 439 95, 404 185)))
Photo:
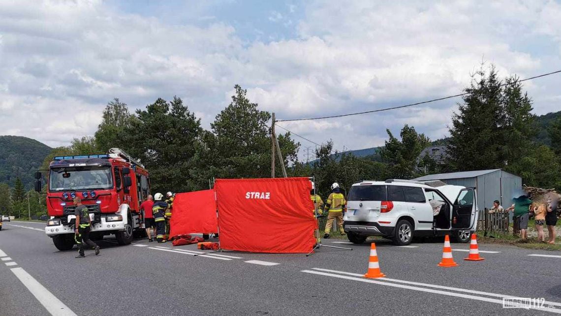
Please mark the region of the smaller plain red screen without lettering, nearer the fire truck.
POLYGON ((218 232, 214 190, 177 193, 169 226, 170 237, 218 232))

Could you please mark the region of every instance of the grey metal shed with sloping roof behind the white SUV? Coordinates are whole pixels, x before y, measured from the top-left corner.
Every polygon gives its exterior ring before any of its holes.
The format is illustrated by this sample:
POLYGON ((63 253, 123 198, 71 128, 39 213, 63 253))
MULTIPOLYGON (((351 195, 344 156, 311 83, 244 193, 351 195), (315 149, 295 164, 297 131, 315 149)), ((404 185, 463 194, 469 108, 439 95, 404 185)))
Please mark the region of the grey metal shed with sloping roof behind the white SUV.
POLYGON ((507 208, 512 204, 512 198, 523 194, 522 178, 502 169, 438 173, 413 180, 440 180, 450 185, 475 187, 479 209, 492 207, 494 200, 499 200, 507 208))

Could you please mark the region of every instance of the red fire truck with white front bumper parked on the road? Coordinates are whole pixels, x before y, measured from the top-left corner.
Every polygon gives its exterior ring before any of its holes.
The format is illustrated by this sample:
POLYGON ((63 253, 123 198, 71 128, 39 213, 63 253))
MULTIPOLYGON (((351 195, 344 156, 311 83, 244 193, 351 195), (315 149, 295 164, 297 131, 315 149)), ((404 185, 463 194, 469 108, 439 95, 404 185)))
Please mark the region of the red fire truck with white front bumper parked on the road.
MULTIPOLYGON (((35 174, 35 190, 41 191, 43 175, 35 174)), ((59 250, 75 245, 76 205, 80 196, 88 207, 91 239, 115 235, 119 245, 142 235, 140 203, 150 192, 150 178, 144 166, 118 148, 108 154, 54 157, 47 175, 47 221, 45 233, 59 250)))

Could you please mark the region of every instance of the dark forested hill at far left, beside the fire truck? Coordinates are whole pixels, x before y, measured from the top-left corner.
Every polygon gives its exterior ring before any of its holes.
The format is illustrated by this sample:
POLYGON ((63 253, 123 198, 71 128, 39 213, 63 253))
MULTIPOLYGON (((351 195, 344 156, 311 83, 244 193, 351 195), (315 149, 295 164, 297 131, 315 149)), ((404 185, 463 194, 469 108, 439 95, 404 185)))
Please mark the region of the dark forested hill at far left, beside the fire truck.
POLYGON ((22 136, 0 136, 0 183, 13 187, 17 177, 26 189, 33 187, 33 172, 52 148, 22 136))

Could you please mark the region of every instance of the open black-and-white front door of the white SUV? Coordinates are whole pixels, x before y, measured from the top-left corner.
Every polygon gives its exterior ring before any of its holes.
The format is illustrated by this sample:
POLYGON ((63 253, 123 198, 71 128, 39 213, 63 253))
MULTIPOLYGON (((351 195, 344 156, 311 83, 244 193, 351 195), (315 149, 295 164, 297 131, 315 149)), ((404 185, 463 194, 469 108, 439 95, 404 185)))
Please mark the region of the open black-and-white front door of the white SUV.
POLYGON ((462 189, 452 205, 452 229, 475 229, 476 220, 477 194, 474 189, 462 189))

